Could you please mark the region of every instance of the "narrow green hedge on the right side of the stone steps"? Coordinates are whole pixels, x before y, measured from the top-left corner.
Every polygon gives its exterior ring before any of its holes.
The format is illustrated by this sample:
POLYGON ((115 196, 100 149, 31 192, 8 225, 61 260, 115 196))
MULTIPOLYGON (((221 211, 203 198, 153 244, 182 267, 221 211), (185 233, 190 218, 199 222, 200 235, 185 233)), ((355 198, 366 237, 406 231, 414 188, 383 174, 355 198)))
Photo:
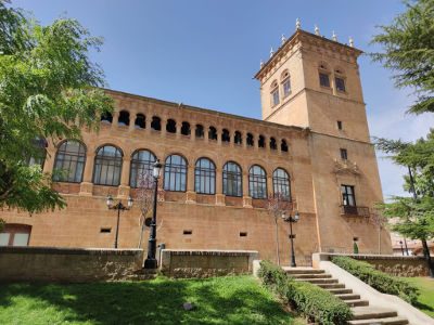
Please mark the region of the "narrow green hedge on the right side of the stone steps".
POLYGON ((418 299, 418 288, 409 283, 375 270, 368 262, 348 257, 333 257, 332 262, 383 294, 398 296, 410 303, 418 299))

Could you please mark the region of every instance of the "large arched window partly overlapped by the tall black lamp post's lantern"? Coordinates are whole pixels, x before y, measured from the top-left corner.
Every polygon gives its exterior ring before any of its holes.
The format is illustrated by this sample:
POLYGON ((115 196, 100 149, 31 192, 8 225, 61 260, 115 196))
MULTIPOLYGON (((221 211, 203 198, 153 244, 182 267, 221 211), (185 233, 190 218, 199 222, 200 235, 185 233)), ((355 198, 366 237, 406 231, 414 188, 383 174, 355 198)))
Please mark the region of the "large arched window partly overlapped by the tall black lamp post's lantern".
POLYGON ((141 150, 132 154, 129 185, 131 187, 150 187, 152 169, 156 157, 150 151, 141 150))

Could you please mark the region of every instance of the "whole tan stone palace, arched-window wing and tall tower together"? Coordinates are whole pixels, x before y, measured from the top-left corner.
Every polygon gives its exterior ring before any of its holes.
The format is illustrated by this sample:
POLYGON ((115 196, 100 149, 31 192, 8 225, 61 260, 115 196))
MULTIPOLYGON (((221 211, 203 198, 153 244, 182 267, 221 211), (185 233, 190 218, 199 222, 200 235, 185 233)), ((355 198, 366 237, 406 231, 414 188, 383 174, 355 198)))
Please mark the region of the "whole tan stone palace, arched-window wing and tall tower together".
MULTIPOLYGON (((255 78, 263 120, 106 90, 116 110, 82 142, 50 141, 43 170, 66 169, 54 184, 67 208, 29 216, 0 211, 1 245, 113 247, 117 213, 137 196, 138 174, 158 158, 165 166, 157 243, 167 248, 248 249, 276 260, 275 218, 267 196, 283 193, 298 264, 315 251, 375 252, 370 221, 382 191, 370 143, 357 57, 361 51, 299 28, 255 78)), ((138 205, 123 211, 120 248, 139 243, 138 205)), ((281 260, 289 263, 289 224, 278 220, 281 260)), ((143 247, 146 246, 148 230, 143 247)), ((392 252, 388 234, 382 252, 392 252)))

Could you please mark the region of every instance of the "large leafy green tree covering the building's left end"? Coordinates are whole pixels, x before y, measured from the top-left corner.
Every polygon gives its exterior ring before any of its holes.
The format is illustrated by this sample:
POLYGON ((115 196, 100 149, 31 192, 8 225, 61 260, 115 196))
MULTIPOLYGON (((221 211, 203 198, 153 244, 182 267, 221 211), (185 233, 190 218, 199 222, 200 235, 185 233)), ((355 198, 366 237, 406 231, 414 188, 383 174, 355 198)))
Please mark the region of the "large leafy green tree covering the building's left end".
POLYGON ((51 176, 29 161, 47 155, 37 144, 98 131, 99 116, 113 110, 100 89, 103 72, 89 58, 101 43, 75 20, 41 26, 0 0, 0 208, 65 206, 51 176))

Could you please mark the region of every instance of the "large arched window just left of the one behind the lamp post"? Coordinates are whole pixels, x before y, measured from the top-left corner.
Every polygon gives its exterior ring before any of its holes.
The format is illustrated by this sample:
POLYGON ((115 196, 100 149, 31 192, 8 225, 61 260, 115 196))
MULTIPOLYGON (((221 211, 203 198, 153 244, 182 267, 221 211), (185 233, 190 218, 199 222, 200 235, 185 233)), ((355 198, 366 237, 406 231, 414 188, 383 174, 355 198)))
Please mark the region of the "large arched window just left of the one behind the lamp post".
POLYGON ((120 183, 123 153, 113 145, 104 145, 97 151, 93 183, 117 186, 120 183))

